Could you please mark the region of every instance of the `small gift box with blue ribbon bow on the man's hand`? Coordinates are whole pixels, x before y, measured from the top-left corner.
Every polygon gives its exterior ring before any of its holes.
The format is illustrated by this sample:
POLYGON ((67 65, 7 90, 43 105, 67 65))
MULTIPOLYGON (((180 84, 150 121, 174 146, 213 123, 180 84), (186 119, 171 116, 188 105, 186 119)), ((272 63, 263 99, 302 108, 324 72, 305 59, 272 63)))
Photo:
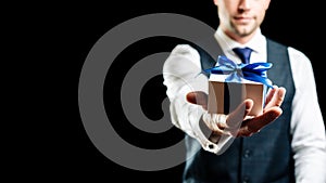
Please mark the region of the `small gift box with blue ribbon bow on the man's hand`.
POLYGON ((271 63, 235 64, 218 56, 217 66, 205 69, 210 73, 208 110, 212 114, 228 114, 246 99, 253 101, 250 116, 263 113, 265 93, 273 88, 266 77, 271 63))

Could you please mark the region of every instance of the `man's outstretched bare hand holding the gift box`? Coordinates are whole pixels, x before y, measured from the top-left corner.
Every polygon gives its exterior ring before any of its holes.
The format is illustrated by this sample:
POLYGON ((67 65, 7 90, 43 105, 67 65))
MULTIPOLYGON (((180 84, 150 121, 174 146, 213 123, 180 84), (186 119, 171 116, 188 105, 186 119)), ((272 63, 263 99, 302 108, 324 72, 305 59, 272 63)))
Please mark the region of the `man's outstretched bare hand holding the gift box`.
MULTIPOLYGON (((227 131, 234 136, 250 136, 259 132, 262 128, 277 119, 283 110, 280 105, 286 94, 285 88, 274 86, 266 95, 263 114, 259 116, 248 116, 253 106, 253 101, 244 100, 234 112, 227 115, 225 125, 216 125, 220 129, 208 126, 213 133, 222 134, 227 131)), ((202 91, 195 91, 187 94, 187 101, 192 104, 201 105, 208 109, 208 94, 202 91)))

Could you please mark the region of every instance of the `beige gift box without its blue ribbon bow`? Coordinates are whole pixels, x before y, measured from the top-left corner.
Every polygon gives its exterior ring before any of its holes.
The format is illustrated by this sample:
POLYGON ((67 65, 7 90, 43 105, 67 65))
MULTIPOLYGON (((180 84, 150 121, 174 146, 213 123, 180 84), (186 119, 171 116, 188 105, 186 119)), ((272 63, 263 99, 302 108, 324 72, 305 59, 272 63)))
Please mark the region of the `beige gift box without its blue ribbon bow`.
POLYGON ((209 79, 208 110, 211 114, 228 114, 243 100, 251 99, 250 116, 261 115, 265 101, 266 86, 243 79, 241 82, 225 82, 225 76, 211 75, 209 79))

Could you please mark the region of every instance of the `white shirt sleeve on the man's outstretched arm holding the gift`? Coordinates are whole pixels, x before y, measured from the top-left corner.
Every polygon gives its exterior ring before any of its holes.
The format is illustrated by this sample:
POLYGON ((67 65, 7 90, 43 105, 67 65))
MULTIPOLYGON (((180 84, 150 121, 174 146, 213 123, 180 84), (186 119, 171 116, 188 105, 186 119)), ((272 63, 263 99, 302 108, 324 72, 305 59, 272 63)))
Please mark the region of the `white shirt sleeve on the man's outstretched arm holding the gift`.
POLYGON ((221 154, 230 145, 234 138, 221 136, 215 144, 208 140, 199 122, 206 113, 200 105, 187 102, 186 95, 191 91, 208 93, 209 80, 202 71, 198 51, 188 44, 176 45, 163 66, 164 84, 170 99, 171 119, 175 127, 198 140, 201 146, 212 153, 221 154))

